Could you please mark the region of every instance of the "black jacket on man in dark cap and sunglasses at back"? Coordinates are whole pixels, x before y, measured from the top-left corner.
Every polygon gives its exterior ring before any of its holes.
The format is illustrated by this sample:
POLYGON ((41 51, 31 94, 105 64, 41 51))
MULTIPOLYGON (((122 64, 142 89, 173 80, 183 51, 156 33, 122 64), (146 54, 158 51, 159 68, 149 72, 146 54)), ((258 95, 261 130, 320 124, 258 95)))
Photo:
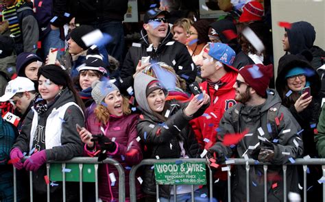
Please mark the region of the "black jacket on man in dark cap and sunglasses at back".
POLYGON ((123 66, 121 68, 121 88, 123 90, 133 86, 133 75, 136 72, 136 66, 142 57, 150 56, 150 62, 165 62, 169 66, 172 66, 177 75, 186 80, 187 91, 189 91, 189 84, 193 83, 196 77, 197 68, 192 61, 189 51, 180 42, 172 40, 172 34, 168 29, 167 36, 163 38, 155 51, 147 51, 149 47, 149 40, 145 29, 141 30, 142 40, 138 46, 130 47, 128 53, 125 56, 123 66), (182 66, 182 68, 180 68, 182 66))

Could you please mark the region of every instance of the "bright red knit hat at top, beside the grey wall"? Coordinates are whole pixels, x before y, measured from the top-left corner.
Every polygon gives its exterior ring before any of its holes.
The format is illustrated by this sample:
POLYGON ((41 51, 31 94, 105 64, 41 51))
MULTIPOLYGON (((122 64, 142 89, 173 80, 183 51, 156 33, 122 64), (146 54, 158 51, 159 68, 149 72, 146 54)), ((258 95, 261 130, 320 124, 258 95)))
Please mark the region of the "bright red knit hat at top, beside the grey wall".
POLYGON ((249 21, 261 21, 264 14, 264 8, 258 1, 250 1, 243 7, 243 13, 239 17, 239 22, 247 23, 249 21))

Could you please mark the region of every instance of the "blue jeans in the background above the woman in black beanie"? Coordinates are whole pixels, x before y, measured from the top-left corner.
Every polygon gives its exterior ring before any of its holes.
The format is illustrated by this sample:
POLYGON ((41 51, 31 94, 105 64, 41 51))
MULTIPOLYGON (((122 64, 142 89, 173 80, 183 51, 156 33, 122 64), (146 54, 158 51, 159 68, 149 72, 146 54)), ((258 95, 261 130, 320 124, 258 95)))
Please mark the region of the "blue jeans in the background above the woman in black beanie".
POLYGON ((61 49, 64 48, 64 40, 60 38, 60 29, 51 29, 51 31, 49 31, 49 34, 47 34, 43 40, 42 48, 45 58, 49 54, 49 48, 58 49, 56 58, 59 59, 62 57, 64 51, 61 51, 61 49))

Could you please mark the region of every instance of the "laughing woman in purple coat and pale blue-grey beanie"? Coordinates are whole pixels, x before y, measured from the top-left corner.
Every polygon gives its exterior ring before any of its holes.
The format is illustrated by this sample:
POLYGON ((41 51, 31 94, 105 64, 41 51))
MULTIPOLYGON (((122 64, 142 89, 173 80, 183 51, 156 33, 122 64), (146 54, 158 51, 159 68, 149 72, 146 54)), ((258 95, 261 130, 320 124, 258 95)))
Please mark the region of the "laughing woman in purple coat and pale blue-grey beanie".
MULTIPOLYGON (((143 158, 141 145, 136 140, 138 115, 130 114, 128 99, 122 97, 119 89, 110 81, 94 81, 92 87, 91 95, 97 103, 95 115, 98 124, 97 129, 95 125, 91 131, 85 128, 80 130, 80 138, 85 144, 84 153, 88 156, 99 153, 99 161, 112 157, 120 162, 125 170, 125 201, 130 201, 130 167, 139 164, 143 158), (102 134, 95 135, 97 131, 102 131, 102 134)), ((102 201, 118 201, 119 174, 115 166, 100 164, 99 176, 99 198, 102 201), (115 174, 115 182, 109 177, 110 173, 115 174)), ((141 197, 140 186, 138 183, 137 198, 141 197)))

